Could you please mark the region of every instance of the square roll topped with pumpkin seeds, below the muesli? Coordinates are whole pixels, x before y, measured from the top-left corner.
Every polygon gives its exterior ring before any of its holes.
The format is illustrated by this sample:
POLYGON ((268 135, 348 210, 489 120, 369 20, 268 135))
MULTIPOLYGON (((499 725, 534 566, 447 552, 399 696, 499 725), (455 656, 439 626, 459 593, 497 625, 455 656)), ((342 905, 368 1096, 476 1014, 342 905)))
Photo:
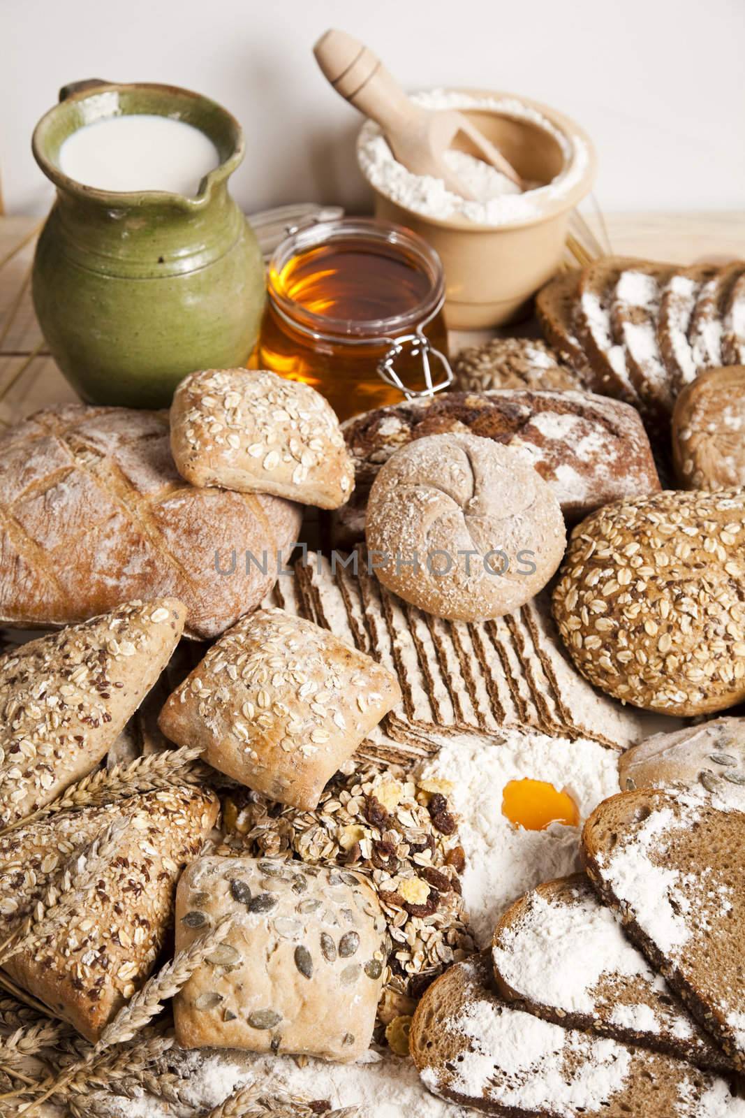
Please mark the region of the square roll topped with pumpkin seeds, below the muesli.
POLYGON ((226 939, 173 1003, 179 1043, 361 1057, 389 951, 364 878, 283 859, 202 858, 179 882, 176 950, 226 915, 226 939))

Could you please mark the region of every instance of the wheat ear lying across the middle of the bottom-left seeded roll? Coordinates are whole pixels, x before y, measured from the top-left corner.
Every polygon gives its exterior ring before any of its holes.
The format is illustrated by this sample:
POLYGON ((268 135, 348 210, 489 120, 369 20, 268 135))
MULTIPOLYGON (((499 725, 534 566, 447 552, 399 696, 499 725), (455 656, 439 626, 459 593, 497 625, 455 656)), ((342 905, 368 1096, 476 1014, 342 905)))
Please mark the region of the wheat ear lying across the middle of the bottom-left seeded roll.
POLYGON ((73 869, 65 866, 59 882, 55 881, 47 887, 31 912, 19 920, 0 944, 0 966, 4 966, 19 951, 37 947, 40 940, 52 935, 75 915, 82 899, 95 887, 116 854, 120 837, 128 823, 128 816, 114 819, 75 859, 73 869))

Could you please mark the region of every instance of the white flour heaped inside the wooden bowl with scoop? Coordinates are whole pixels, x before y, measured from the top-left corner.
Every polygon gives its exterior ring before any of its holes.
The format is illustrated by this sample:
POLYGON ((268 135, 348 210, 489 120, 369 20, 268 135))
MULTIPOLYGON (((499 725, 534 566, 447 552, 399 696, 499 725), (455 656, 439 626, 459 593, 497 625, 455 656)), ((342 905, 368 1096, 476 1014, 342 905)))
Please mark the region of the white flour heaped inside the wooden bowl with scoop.
POLYGON ((491 226, 529 220, 547 201, 569 192, 588 167, 588 148, 580 136, 560 131, 517 97, 476 97, 457 91, 432 89, 413 94, 411 100, 426 108, 491 108, 529 121, 554 138, 565 159, 564 169, 552 182, 520 193, 506 176, 483 160, 450 151, 446 155, 450 168, 475 196, 476 200, 469 201, 448 190, 442 179, 408 171, 394 159, 380 126, 367 121, 357 141, 357 159, 363 173, 382 195, 416 214, 442 220, 462 217, 476 225, 491 226))

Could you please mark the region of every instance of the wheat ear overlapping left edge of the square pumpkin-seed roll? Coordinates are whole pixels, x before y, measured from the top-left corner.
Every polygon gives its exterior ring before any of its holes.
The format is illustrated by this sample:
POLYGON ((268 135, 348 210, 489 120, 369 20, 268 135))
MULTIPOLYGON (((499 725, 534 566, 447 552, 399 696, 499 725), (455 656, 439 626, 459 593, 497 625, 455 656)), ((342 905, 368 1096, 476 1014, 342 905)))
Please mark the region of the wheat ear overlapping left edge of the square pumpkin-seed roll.
MULTIPOLYGON (((223 916, 213 928, 202 932, 185 950, 179 951, 170 963, 161 967, 157 974, 149 978, 144 986, 123 1005, 93 1045, 84 1060, 71 1064, 63 1076, 45 1089, 44 1093, 23 1107, 20 1114, 32 1114, 52 1095, 63 1089, 69 1089, 78 1076, 89 1077, 92 1067, 95 1069, 97 1058, 113 1045, 124 1044, 140 1033, 154 1016, 163 1010, 163 1002, 175 997, 182 986, 191 978, 194 970, 204 961, 207 955, 222 942, 232 923, 232 917, 223 916)), ((122 1076, 120 1078, 126 1078, 122 1076)), ((88 1079, 89 1082, 89 1079, 88 1079)))

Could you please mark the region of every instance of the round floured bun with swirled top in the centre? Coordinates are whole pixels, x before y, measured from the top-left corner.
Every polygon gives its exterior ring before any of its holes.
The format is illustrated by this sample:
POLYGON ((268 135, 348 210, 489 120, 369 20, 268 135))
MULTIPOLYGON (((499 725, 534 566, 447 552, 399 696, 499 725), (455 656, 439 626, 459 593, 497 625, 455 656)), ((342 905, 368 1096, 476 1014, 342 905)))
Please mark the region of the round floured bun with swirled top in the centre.
POLYGON ((392 455, 370 491, 365 536, 383 586, 466 622, 528 601, 566 544, 558 501, 524 453, 468 434, 392 455))

